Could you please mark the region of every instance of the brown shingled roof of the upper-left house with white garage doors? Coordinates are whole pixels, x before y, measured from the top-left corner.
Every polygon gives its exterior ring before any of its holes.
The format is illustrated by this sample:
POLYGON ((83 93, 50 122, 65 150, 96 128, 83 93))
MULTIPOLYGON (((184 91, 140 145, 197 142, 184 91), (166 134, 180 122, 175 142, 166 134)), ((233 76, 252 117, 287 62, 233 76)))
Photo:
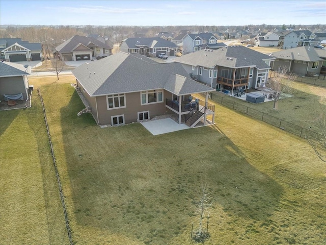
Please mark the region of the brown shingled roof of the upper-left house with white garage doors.
POLYGON ((105 43, 97 40, 94 37, 88 36, 79 36, 75 35, 72 38, 68 39, 64 43, 61 43, 59 46, 56 47, 56 50, 60 53, 71 53, 72 50, 79 44, 83 44, 88 46, 90 43, 93 43, 97 47, 105 48, 107 50, 112 50, 112 47, 106 45, 105 43))

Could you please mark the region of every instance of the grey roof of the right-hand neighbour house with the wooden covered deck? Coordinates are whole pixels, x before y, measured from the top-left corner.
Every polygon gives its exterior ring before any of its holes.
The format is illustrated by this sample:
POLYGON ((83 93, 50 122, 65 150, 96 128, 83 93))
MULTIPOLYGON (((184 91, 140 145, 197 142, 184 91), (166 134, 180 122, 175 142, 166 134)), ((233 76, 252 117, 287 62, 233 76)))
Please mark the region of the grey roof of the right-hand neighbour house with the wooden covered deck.
POLYGON ((176 62, 187 65, 199 65, 213 68, 216 65, 240 68, 257 67, 258 69, 270 69, 264 60, 274 59, 251 48, 244 46, 228 46, 219 50, 201 50, 186 54, 174 59, 176 62))

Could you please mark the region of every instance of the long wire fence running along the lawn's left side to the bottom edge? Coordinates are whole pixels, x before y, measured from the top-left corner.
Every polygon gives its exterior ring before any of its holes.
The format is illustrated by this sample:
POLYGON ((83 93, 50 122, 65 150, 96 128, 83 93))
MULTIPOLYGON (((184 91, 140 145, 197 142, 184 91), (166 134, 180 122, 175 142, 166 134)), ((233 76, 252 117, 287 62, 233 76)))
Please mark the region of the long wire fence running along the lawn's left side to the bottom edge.
MULTIPOLYGON (((35 130, 35 133, 38 138, 38 148, 41 158, 49 243, 72 245, 69 219, 66 212, 56 158, 52 148, 45 107, 40 90, 38 89, 37 91, 40 100, 34 101, 34 106, 40 107, 43 111, 43 116, 38 117, 38 120, 42 120, 42 123, 40 126, 37 126, 38 129, 35 130)), ((38 114, 40 113, 38 112, 38 114)))

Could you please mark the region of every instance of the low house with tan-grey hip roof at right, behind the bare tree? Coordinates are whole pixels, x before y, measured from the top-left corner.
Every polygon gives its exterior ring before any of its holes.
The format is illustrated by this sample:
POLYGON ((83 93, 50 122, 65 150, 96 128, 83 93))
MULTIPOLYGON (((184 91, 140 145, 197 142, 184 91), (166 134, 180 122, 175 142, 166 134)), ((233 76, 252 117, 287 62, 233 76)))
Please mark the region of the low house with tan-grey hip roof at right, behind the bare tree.
MULTIPOLYGON (((326 50, 321 50, 321 52, 326 50)), ((301 46, 271 53, 275 61, 271 64, 274 70, 286 67, 288 72, 300 76, 320 74, 323 58, 310 46, 301 46)), ((324 55, 323 57, 325 57, 324 55)))

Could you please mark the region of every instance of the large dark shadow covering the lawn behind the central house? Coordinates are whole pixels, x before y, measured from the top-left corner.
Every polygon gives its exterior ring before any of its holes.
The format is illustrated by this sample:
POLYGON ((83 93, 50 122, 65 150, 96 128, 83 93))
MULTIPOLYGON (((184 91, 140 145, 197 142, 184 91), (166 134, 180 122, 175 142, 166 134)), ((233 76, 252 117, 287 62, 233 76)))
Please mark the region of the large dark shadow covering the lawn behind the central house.
MULTIPOLYGON (((229 216, 266 220, 282 187, 213 127, 152 136, 141 124, 100 129, 74 92, 61 127, 78 232, 167 244, 195 219, 204 180, 229 216), (88 227, 98 228, 98 234, 88 227), (140 232, 140 227, 141 232, 140 232)), ((214 211, 212 211, 214 212, 214 211)), ((82 240, 80 242, 83 242, 82 240)))

